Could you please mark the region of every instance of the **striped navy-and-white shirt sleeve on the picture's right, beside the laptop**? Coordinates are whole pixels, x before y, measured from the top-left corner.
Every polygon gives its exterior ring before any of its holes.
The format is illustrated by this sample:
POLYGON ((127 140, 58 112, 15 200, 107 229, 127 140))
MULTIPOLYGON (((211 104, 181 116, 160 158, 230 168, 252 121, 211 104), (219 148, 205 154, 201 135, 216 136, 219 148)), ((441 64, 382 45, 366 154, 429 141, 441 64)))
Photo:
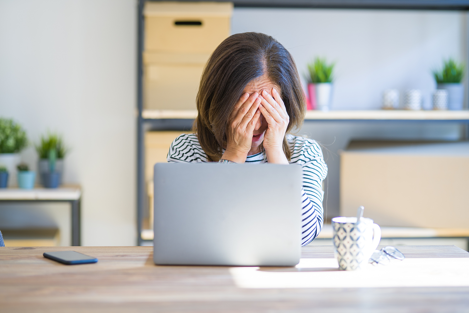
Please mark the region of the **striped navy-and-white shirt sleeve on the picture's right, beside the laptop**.
POLYGON ((291 163, 303 168, 301 243, 306 245, 323 227, 322 181, 327 175, 327 165, 318 143, 302 137, 295 137, 291 163))

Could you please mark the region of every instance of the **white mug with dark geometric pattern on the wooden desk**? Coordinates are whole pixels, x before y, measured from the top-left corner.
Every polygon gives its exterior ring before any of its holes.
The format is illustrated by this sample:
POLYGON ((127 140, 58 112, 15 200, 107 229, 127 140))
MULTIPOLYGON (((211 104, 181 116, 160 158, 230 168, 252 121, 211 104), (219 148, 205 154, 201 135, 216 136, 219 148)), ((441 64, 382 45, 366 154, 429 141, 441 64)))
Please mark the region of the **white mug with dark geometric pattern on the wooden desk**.
POLYGON ((373 220, 362 217, 334 217, 332 219, 334 255, 340 270, 365 267, 381 240, 381 229, 373 220))

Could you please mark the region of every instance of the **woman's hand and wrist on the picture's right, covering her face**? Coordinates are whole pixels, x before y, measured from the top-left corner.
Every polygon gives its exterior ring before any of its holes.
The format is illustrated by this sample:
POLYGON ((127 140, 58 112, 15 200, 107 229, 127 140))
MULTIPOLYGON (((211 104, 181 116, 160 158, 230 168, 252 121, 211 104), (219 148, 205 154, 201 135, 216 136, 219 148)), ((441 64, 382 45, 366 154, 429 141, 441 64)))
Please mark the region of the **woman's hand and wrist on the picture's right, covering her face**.
POLYGON ((280 98, 280 94, 275 88, 272 88, 272 96, 265 90, 260 95, 261 105, 259 110, 268 123, 262 145, 264 146, 269 163, 288 164, 287 157, 283 153, 283 138, 285 137, 290 117, 287 114, 287 108, 283 100, 280 98))

